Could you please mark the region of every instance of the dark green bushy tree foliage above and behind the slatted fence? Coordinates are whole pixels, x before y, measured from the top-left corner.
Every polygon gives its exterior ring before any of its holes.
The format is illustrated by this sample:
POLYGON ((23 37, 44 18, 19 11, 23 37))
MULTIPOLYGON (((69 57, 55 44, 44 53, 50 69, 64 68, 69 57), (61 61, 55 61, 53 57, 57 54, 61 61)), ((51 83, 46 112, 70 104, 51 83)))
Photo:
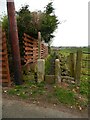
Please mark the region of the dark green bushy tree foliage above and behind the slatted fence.
MULTIPOLYGON (((27 33, 34 38, 38 38, 38 31, 41 32, 42 39, 49 43, 54 37, 53 32, 59 24, 56 15, 53 13, 52 2, 49 3, 45 11, 29 10, 29 5, 25 5, 16 12, 20 53, 23 56, 23 34, 27 33)), ((8 34, 8 19, 4 16, 2 19, 3 29, 8 34)))

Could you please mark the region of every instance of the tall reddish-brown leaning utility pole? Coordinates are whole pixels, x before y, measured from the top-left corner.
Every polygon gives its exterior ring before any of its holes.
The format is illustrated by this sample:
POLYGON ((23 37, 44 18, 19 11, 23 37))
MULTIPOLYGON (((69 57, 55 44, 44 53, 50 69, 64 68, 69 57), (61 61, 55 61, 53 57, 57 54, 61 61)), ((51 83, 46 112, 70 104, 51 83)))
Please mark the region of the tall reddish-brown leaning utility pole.
POLYGON ((14 68, 14 82, 19 85, 22 84, 22 72, 14 0, 7 0, 7 11, 9 20, 9 37, 11 40, 14 63, 14 66, 12 66, 14 68))

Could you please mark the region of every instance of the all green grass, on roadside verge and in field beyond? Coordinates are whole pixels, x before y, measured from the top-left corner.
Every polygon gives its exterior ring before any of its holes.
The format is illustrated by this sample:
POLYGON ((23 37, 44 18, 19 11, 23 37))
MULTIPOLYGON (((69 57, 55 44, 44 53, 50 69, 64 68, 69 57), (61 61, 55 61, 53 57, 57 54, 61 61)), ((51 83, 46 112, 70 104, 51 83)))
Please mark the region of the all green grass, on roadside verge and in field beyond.
MULTIPOLYGON (((62 53, 64 57, 67 57, 70 52, 76 52, 76 48, 66 48, 61 49, 59 53, 62 53)), ((84 48, 84 51, 87 51, 84 48)), ((50 72, 50 59, 52 56, 48 56, 46 60, 46 74, 50 72)), ((86 58, 86 55, 83 55, 86 58)), ((82 73, 87 73, 87 69, 82 69, 82 73)), ((47 88, 47 84, 45 82, 36 83, 34 81, 33 75, 24 75, 25 80, 24 85, 14 86, 8 90, 9 95, 16 95, 22 99, 28 98, 37 98, 37 99, 47 99, 47 101, 52 102, 52 99, 57 99, 59 103, 67 104, 70 106, 84 106, 86 107, 88 104, 88 77, 87 75, 81 75, 79 90, 76 85, 69 85, 67 88, 63 86, 51 85, 50 88, 47 88)))

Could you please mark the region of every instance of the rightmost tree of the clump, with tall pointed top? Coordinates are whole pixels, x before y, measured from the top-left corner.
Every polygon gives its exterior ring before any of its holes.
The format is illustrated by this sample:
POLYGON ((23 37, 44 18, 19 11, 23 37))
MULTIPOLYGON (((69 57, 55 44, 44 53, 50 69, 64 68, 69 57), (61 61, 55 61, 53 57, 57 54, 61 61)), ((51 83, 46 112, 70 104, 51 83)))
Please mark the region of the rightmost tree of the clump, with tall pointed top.
POLYGON ((53 32, 57 29, 58 24, 57 16, 54 13, 53 2, 50 2, 45 7, 41 27, 42 36, 46 43, 50 43, 54 37, 53 32))

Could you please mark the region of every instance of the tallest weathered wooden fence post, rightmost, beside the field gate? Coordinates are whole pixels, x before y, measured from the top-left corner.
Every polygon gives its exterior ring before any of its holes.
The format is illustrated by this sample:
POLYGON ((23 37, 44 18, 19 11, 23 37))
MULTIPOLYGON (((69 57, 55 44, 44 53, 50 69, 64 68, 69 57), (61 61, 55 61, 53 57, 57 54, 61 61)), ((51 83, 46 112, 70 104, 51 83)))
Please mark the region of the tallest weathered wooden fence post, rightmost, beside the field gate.
POLYGON ((77 50, 76 67, 75 67, 75 81, 76 81, 77 85, 80 84, 81 59, 82 59, 82 51, 81 50, 77 50))

